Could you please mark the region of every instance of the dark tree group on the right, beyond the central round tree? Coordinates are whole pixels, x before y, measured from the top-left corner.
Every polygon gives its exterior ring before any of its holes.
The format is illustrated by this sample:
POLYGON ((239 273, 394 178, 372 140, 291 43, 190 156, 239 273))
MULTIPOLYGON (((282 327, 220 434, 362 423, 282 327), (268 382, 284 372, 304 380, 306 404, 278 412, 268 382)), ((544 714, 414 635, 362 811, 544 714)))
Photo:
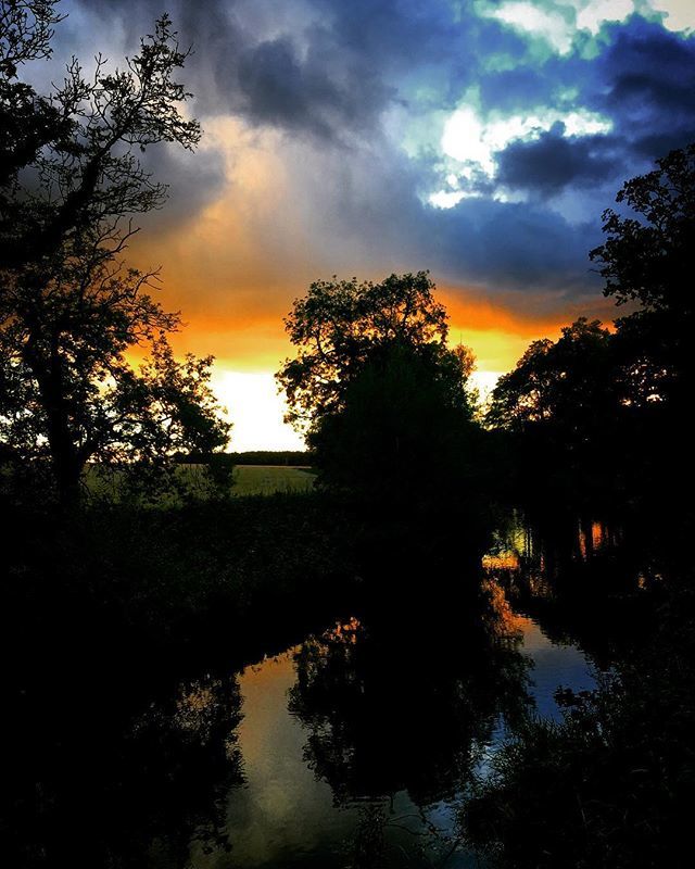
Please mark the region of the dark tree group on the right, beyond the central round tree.
POLYGON ((488 414, 517 444, 522 484, 547 480, 546 499, 576 507, 644 507, 692 481, 695 144, 627 181, 617 202, 590 257, 628 313, 610 329, 580 318, 557 341, 534 341, 488 414))

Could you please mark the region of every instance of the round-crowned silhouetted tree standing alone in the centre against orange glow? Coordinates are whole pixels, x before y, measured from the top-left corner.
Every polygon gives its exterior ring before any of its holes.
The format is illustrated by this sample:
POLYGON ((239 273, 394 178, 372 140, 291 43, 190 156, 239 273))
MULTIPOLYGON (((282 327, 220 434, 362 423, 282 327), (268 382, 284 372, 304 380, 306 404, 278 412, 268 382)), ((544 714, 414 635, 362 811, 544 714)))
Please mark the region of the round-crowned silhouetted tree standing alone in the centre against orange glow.
MULTIPOLYGON (((446 347, 428 274, 318 281, 287 318, 299 348, 277 375, 320 480, 377 496, 456 486, 475 426, 470 352, 446 347)), ((432 492, 430 492, 432 494, 432 492)))

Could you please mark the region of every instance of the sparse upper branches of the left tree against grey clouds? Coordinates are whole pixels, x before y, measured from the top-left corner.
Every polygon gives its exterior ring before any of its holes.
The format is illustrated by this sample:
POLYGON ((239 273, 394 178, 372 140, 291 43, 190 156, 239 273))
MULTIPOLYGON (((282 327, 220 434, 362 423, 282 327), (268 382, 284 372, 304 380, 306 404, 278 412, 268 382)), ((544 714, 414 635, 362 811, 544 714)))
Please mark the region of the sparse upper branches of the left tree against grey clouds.
POLYGON ((24 64, 50 56, 54 5, 3 0, 0 11, 0 266, 26 266, 39 284, 71 255, 104 260, 123 250, 137 231, 128 216, 166 198, 138 152, 159 142, 191 149, 201 135, 179 111, 190 95, 173 76, 189 52, 167 15, 125 68, 109 72, 98 55, 87 78, 73 59, 48 97, 21 81, 24 64))

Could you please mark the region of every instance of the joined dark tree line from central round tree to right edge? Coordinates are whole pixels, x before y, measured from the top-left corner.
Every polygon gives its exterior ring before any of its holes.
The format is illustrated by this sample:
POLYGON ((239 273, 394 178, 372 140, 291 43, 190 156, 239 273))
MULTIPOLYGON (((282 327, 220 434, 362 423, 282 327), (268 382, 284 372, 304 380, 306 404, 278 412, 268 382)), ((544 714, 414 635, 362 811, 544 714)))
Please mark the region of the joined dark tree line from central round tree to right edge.
POLYGON ((644 505, 690 479, 695 144, 627 181, 617 202, 589 255, 628 313, 533 341, 484 415, 472 354, 448 347, 427 273, 313 284, 286 320, 298 355, 277 377, 320 480, 418 498, 428 483, 479 491, 482 475, 493 496, 580 512, 644 505))

